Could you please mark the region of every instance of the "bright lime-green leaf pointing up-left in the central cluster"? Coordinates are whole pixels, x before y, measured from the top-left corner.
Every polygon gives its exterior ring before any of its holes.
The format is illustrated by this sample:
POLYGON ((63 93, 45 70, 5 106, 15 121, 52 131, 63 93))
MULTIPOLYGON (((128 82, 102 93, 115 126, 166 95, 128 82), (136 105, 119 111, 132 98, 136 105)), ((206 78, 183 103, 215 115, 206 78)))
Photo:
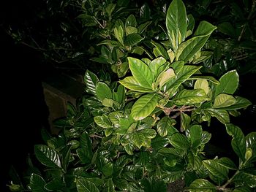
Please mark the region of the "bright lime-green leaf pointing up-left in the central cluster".
POLYGON ((129 69, 131 70, 135 80, 137 80, 144 88, 151 89, 153 78, 148 66, 138 58, 128 57, 128 61, 129 69))

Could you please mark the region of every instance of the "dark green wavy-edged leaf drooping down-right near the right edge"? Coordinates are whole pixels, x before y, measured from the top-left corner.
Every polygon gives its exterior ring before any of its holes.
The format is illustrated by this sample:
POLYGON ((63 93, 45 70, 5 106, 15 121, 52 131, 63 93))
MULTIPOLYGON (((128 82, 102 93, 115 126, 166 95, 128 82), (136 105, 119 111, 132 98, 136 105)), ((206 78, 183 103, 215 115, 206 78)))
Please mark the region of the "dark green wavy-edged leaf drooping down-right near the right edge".
POLYGON ((227 134, 233 137, 231 141, 231 145, 234 152, 236 153, 236 155, 238 155, 239 158, 241 158, 241 160, 244 161, 245 160, 244 155, 246 152, 246 143, 245 143, 244 134, 241 131, 241 128, 239 128, 238 126, 234 126, 231 123, 228 123, 225 126, 227 130, 227 134))

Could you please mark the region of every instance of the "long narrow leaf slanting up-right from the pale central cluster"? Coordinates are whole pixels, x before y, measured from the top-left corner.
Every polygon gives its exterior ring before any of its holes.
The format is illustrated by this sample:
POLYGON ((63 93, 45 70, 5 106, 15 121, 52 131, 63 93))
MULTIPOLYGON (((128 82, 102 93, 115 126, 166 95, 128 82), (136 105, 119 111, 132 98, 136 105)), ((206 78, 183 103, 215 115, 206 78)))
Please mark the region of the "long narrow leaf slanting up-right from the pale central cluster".
MULTIPOLYGON (((178 90, 179 86, 189 79, 189 77, 200 69, 200 66, 183 66, 181 71, 176 75, 175 78, 171 79, 166 84, 167 94, 173 96, 178 90)), ((174 69, 175 70, 175 69, 174 69)), ((175 71, 174 71, 175 72, 175 71)))

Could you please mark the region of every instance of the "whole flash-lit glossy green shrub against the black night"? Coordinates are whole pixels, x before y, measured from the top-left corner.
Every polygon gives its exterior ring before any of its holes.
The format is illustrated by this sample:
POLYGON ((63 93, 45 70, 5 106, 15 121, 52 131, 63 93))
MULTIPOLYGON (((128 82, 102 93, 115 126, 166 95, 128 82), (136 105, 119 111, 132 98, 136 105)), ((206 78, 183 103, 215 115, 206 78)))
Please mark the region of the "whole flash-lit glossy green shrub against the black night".
POLYGON ((78 18, 99 40, 99 55, 91 60, 120 79, 86 71, 87 94, 78 106, 69 104, 67 118, 56 120, 59 135, 43 131, 45 145, 34 147, 44 171, 29 161, 27 188, 167 191, 167 183, 183 179, 185 191, 252 191, 256 133, 244 136, 230 123, 230 115, 251 103, 236 96, 236 70, 217 79, 204 73, 212 55, 206 45, 217 27, 207 21, 195 25, 181 0, 170 3, 162 31, 152 29, 157 20, 146 4, 139 17, 125 17, 127 1, 84 1, 83 7, 78 18), (225 124, 237 160, 208 158, 211 134, 203 122, 210 126, 211 118, 225 124))

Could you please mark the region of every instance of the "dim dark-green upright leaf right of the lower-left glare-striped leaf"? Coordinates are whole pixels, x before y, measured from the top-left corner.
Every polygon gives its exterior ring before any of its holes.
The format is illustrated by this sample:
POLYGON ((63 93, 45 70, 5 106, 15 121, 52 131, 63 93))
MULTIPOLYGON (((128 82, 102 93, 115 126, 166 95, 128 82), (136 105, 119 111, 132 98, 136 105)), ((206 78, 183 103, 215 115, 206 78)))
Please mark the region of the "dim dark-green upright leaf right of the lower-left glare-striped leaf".
POLYGON ((80 147, 76 150, 81 164, 91 163, 92 150, 91 150, 91 139, 86 132, 80 137, 80 147))

